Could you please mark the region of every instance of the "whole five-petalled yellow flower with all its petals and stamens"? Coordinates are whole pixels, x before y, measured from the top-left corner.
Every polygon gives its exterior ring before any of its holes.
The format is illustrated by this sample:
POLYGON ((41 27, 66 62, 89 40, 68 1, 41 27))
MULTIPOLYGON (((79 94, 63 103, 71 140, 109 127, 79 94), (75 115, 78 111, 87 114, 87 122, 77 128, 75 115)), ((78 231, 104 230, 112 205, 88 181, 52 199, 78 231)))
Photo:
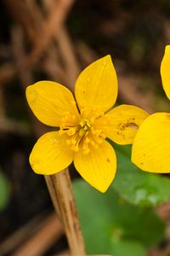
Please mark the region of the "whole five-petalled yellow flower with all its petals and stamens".
POLYGON ((116 173, 116 154, 105 138, 119 144, 133 143, 144 110, 116 102, 117 79, 107 55, 82 71, 75 85, 75 98, 65 86, 41 81, 26 89, 33 113, 46 125, 59 127, 39 138, 32 149, 34 172, 49 175, 74 160, 77 172, 101 192, 116 173), (111 109, 111 110, 110 110, 111 109))

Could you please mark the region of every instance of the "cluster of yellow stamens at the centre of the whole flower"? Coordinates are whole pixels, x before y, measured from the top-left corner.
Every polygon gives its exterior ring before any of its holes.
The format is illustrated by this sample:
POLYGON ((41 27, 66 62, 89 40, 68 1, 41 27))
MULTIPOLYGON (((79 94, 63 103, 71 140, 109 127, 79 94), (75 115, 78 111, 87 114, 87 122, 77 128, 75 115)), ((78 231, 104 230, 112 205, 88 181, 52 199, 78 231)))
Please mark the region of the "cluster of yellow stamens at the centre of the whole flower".
POLYGON ((59 133, 68 136, 66 143, 71 150, 77 152, 82 147, 83 154, 88 154, 91 147, 98 148, 104 141, 105 133, 94 129, 95 119, 95 115, 87 119, 81 116, 80 120, 76 121, 75 116, 70 113, 62 118, 59 133))

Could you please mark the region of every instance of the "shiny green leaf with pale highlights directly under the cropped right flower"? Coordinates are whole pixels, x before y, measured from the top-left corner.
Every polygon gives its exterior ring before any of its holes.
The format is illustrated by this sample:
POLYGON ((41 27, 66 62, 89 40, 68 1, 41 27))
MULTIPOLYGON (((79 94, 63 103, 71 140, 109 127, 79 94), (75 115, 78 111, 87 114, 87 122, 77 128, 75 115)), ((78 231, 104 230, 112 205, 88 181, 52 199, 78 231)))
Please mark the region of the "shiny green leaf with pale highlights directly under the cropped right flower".
POLYGON ((131 147, 113 145, 116 149, 117 171, 112 188, 135 205, 157 206, 170 200, 170 179, 160 174, 143 172, 130 160, 131 147))

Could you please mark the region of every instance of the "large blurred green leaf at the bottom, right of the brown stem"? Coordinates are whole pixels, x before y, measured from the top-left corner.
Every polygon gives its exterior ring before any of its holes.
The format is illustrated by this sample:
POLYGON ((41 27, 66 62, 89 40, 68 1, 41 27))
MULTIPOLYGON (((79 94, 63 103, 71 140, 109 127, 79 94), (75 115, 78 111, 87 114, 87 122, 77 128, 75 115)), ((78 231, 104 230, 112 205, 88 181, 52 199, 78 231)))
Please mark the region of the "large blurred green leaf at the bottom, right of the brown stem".
POLYGON ((88 183, 73 183, 87 253, 144 256, 161 241, 164 224, 150 208, 123 201, 114 189, 99 193, 88 183))

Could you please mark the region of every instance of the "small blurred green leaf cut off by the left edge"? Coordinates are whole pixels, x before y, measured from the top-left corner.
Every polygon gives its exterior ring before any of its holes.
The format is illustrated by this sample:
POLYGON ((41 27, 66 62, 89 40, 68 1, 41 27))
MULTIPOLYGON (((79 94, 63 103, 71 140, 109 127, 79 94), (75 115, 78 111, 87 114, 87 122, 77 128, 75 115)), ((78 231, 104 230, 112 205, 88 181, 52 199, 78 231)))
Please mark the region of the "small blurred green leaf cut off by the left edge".
POLYGON ((10 195, 9 183, 3 172, 0 170, 0 211, 8 204, 10 195))

